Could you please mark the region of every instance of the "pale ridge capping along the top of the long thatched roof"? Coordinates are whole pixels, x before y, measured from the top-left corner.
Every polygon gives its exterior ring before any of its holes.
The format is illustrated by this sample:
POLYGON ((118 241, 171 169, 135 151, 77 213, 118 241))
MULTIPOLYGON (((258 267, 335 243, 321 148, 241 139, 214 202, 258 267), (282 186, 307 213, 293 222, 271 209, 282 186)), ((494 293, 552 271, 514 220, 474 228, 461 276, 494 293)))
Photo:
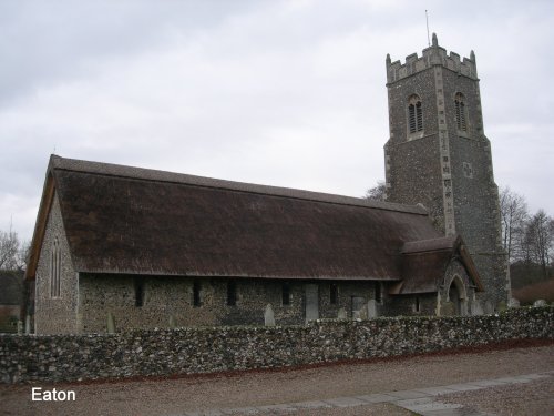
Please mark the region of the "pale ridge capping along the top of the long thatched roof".
POLYGON ((238 192, 257 193, 270 196, 293 197, 299 200, 353 205, 386 211, 408 212, 427 215, 427 211, 417 205, 404 205, 392 202, 370 201, 360 197, 337 195, 324 192, 305 191, 291 187, 260 185, 246 182, 228 181, 185 173, 167 172, 146 168, 126 166, 113 163, 92 162, 78 159, 66 159, 55 154, 50 156, 49 172, 54 169, 96 173, 109 176, 130 177, 153 182, 170 182, 195 186, 225 189, 238 192))

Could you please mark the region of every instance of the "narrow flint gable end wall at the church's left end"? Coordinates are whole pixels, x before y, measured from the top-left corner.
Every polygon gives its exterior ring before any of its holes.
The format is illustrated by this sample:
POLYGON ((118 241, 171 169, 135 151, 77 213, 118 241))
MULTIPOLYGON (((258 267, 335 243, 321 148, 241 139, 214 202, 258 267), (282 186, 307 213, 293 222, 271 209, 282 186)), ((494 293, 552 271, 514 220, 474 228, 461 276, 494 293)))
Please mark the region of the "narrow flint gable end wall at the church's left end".
POLYGON ((54 194, 48 217, 44 240, 39 256, 35 276, 34 329, 37 334, 75 333, 76 318, 76 273, 69 252, 68 240, 60 211, 58 194, 54 194), (51 253, 54 239, 60 246, 61 273, 60 296, 51 296, 51 253))

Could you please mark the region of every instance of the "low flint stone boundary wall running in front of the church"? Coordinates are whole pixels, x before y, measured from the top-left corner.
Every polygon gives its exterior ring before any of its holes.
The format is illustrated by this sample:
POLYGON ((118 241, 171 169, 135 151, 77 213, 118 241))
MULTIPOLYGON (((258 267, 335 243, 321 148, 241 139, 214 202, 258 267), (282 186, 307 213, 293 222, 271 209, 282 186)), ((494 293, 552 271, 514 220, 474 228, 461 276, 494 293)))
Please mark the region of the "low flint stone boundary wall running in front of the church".
POLYGON ((95 335, 0 335, 2 383, 70 382, 286 367, 554 338, 554 306, 500 315, 317 321, 95 335))

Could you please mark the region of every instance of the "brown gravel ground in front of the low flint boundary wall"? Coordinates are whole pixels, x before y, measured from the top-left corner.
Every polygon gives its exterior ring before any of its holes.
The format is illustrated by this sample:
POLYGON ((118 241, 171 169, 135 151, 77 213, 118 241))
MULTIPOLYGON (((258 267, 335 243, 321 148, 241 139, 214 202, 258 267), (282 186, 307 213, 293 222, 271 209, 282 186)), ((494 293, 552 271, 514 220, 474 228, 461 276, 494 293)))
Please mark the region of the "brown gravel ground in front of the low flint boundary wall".
MULTIPOLYGON (((31 402, 31 386, 0 385, 0 415, 184 415, 217 408, 266 406, 434 387, 554 369, 554 344, 505 351, 427 355, 286 372, 161 381, 39 385, 71 389, 75 402, 31 402)), ((500 415, 552 412, 554 377, 526 385, 441 396, 500 415)), ((392 404, 307 409, 294 415, 410 415, 392 404), (339 410, 339 412, 338 412, 339 410)))

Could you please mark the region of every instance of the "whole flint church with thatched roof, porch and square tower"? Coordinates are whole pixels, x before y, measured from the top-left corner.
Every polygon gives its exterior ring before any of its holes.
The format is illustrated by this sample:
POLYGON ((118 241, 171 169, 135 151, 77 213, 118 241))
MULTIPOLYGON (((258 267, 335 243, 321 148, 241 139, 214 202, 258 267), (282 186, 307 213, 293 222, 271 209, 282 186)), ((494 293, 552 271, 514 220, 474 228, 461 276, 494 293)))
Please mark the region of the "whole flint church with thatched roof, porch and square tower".
POLYGON ((50 158, 34 332, 469 315, 507 301, 475 55, 387 57, 387 201, 50 158))

